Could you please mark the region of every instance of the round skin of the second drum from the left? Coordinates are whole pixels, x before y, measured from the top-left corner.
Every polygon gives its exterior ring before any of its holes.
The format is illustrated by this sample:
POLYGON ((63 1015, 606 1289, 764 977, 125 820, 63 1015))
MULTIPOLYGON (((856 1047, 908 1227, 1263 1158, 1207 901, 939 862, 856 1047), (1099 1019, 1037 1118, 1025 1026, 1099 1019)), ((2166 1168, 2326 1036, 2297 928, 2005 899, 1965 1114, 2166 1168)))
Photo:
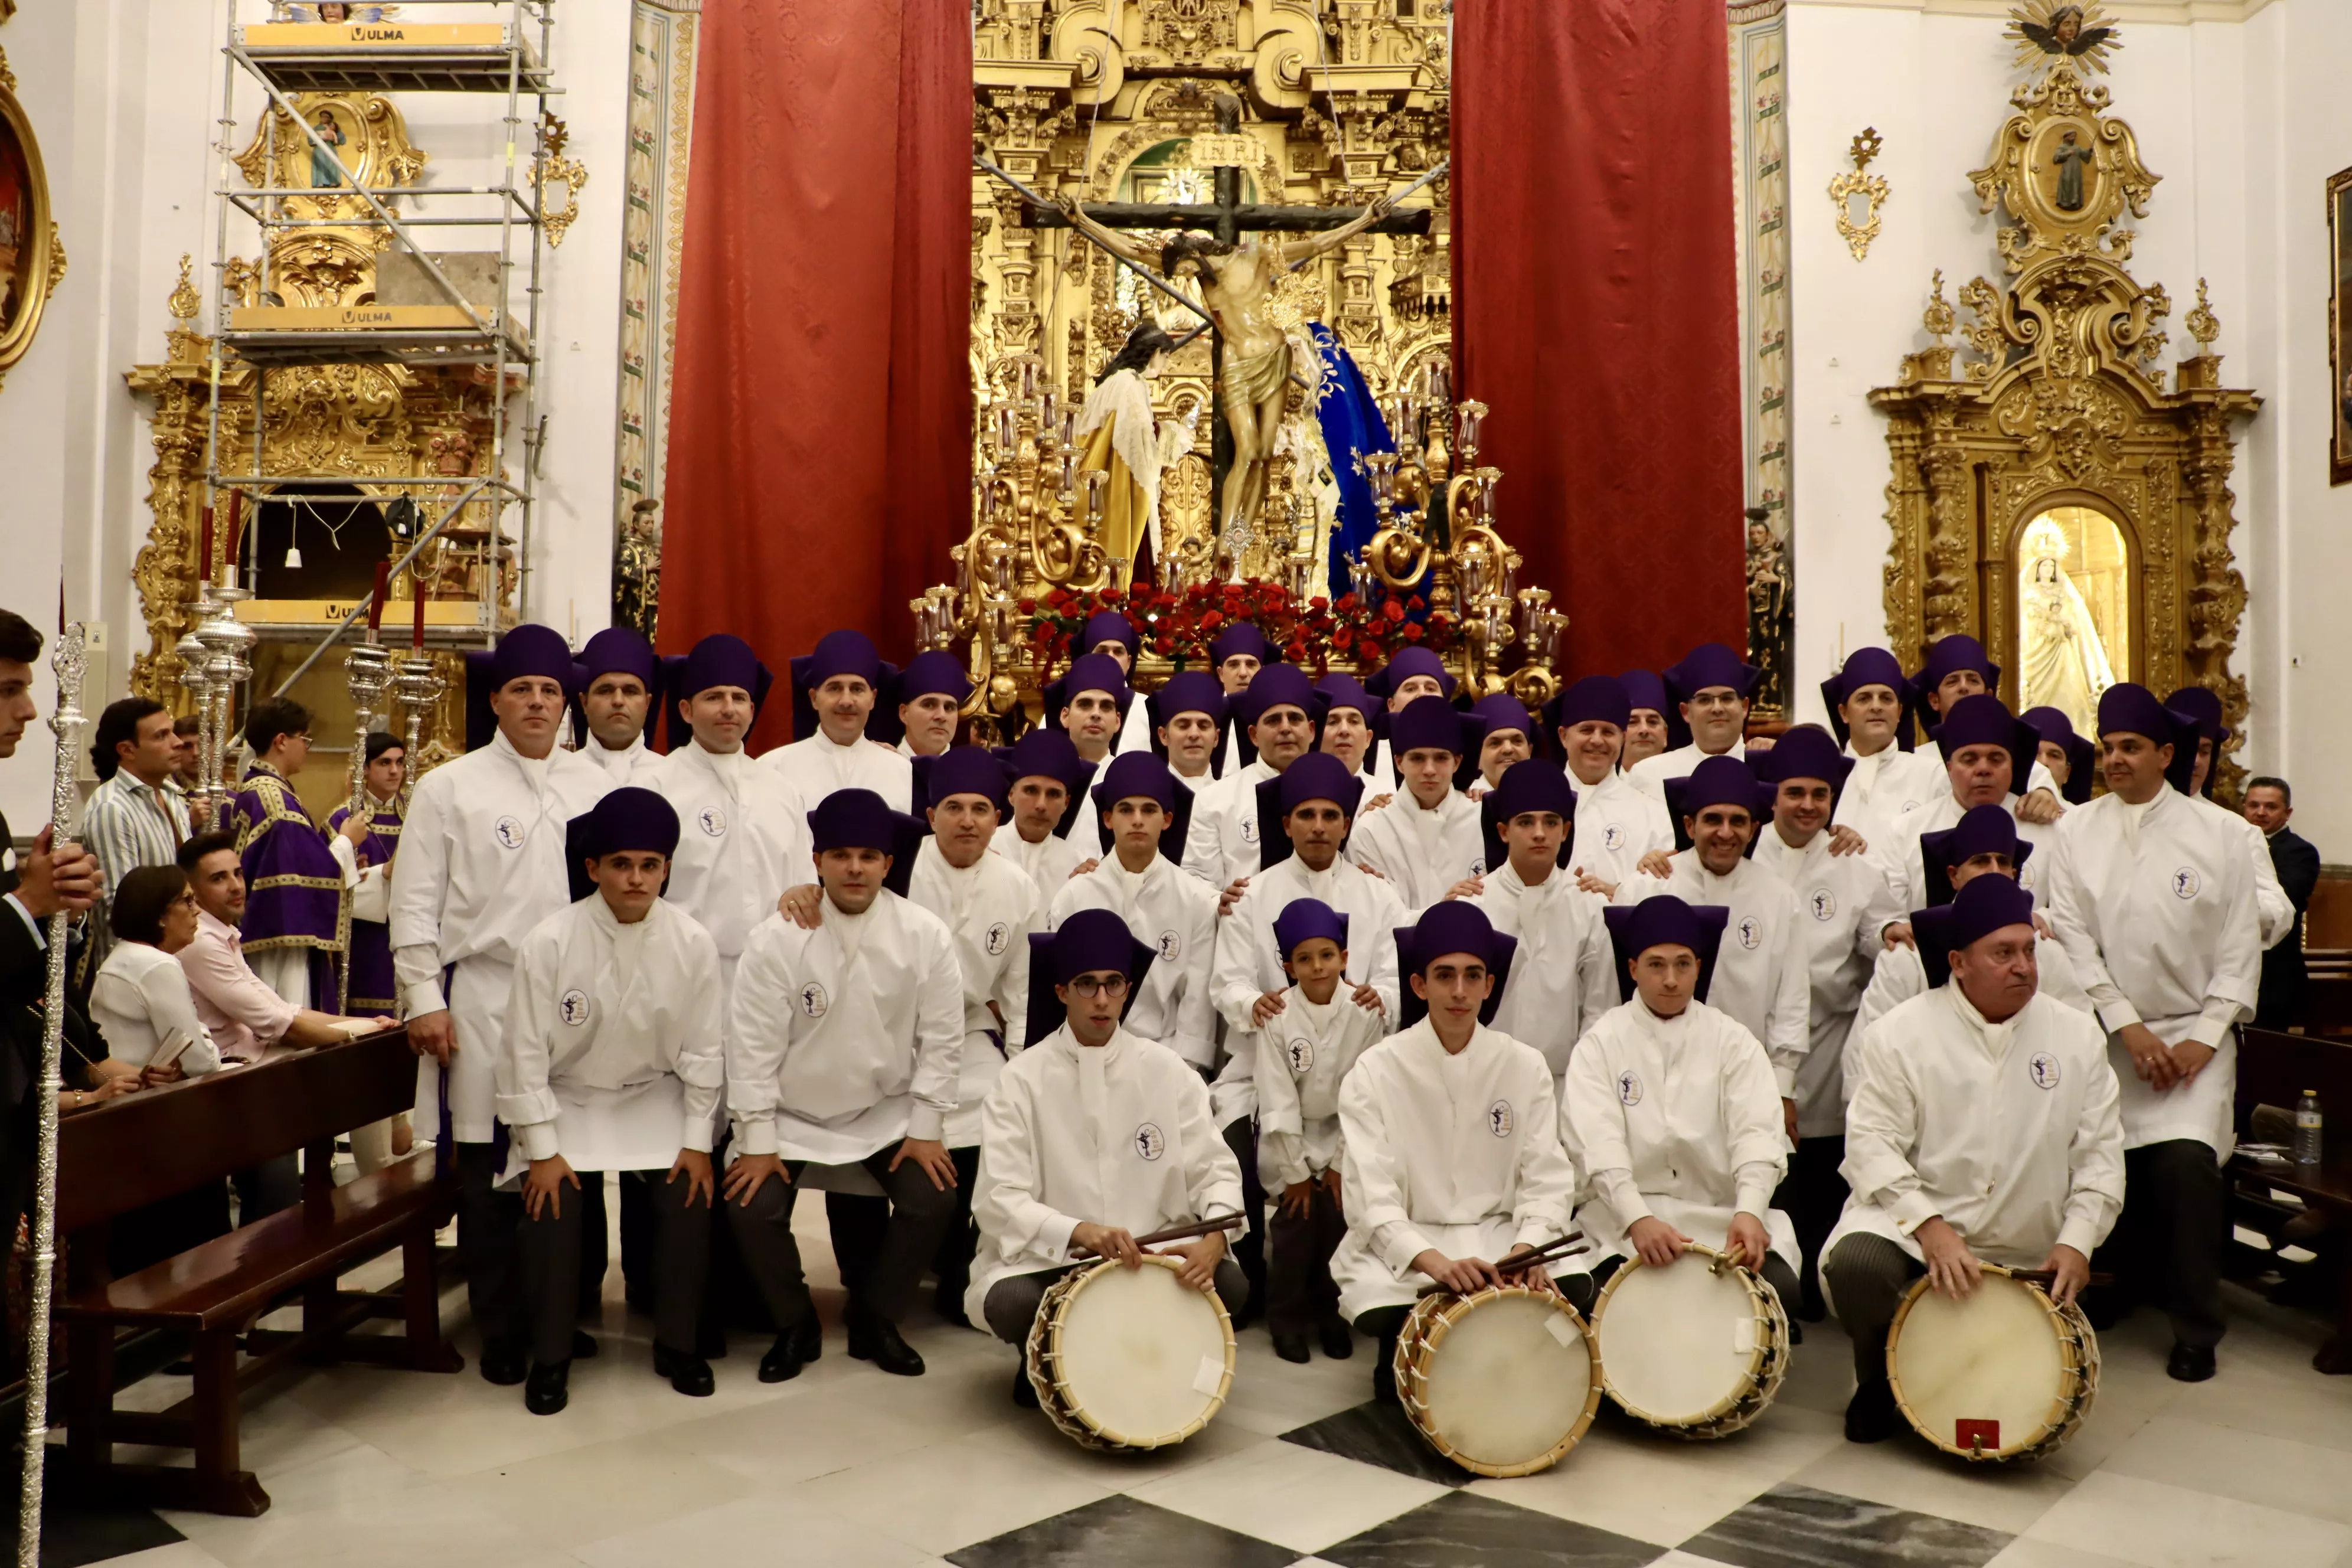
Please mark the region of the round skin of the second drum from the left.
POLYGON ((1543 1460, 1576 1434, 1590 1401, 1592 1349, 1548 1295, 1479 1300, 1428 1354, 1428 1422, 1470 1467, 1543 1460))

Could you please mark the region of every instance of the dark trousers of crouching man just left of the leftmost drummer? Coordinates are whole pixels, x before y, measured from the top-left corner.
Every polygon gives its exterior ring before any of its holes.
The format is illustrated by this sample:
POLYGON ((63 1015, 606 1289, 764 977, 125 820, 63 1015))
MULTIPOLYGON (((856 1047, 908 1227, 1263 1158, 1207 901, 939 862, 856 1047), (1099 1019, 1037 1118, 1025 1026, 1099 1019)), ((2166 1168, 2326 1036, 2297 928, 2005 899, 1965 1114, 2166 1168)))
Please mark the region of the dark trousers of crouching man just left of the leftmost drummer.
MULTIPOLYGON (((844 1227, 835 1220, 833 1229, 835 1262, 840 1262, 842 1284, 849 1288, 849 1309, 866 1309, 891 1324, 906 1321, 922 1284, 922 1269, 938 1251, 938 1234, 955 1218, 955 1187, 941 1192, 913 1159, 891 1171, 889 1161, 896 1152, 894 1143, 858 1161, 889 1194, 889 1218, 880 1237, 870 1222, 844 1227)), ((776 1319, 779 1333, 816 1316, 816 1302, 809 1300, 809 1281, 800 1267, 800 1244, 793 1239, 793 1201, 800 1197, 804 1168, 807 1161, 786 1161, 790 1180, 762 1182, 750 1206, 727 1204, 727 1229, 734 1234, 743 1267, 760 1288, 769 1316, 776 1319)), ((866 1201, 877 1204, 877 1199, 866 1201)))

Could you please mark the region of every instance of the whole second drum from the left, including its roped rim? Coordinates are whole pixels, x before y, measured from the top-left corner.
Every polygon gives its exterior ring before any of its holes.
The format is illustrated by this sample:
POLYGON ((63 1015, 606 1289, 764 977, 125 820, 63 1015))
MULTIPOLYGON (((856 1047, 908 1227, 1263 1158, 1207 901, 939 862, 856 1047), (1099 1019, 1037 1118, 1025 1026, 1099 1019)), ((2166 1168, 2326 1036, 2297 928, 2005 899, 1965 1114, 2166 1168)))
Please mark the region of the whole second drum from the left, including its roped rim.
POLYGON ((1423 1295, 1397 1335, 1395 1371, 1404 1415, 1430 1448, 1482 1476, 1550 1469, 1602 1401, 1585 1319, 1526 1286, 1423 1295))

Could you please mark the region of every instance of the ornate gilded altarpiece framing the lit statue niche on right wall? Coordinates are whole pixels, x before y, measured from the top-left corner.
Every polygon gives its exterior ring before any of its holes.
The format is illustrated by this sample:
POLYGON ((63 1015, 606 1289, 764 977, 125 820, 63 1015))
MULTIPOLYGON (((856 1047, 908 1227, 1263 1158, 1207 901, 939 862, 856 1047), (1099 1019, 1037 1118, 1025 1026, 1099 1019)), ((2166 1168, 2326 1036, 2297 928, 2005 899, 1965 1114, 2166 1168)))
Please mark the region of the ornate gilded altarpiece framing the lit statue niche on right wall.
MULTIPOLYGON (((2129 562, 2131 658, 2114 679, 2213 689, 2234 752, 2246 682, 2230 656, 2246 583, 2230 555, 2232 421, 2260 400, 2223 386, 2201 280, 2185 322, 2197 350, 2164 386, 2173 301, 2126 270, 2133 233, 2122 226, 2126 212, 2147 216, 2161 176, 2107 113, 2096 71, 2098 52, 2060 52, 2011 94, 2016 113, 1969 174, 1983 209, 2006 219, 2006 287, 1973 277, 1959 289, 1976 320, 1955 346, 1938 270, 1924 315, 1933 343, 1870 393, 1893 458, 1886 630, 1905 663, 1938 637, 1978 637, 2018 705, 2025 531, 2053 508, 2089 508, 2114 524, 2129 562)), ((2234 757, 2220 766, 2220 788, 2234 790, 2244 769, 2234 757)))

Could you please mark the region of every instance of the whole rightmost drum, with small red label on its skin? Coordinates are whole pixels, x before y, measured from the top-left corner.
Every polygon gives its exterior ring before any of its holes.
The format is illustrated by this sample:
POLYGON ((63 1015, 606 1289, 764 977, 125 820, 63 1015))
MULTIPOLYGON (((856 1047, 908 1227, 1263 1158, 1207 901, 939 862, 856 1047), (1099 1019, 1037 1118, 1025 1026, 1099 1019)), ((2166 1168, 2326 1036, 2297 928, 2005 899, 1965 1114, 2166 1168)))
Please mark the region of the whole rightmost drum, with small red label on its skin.
POLYGON ((1919 1436, 1964 1460, 2039 1460, 2098 1396, 2098 1335, 2074 1302, 1983 1265, 1955 1302, 1922 1276, 1886 1331, 1886 1378, 1919 1436))

